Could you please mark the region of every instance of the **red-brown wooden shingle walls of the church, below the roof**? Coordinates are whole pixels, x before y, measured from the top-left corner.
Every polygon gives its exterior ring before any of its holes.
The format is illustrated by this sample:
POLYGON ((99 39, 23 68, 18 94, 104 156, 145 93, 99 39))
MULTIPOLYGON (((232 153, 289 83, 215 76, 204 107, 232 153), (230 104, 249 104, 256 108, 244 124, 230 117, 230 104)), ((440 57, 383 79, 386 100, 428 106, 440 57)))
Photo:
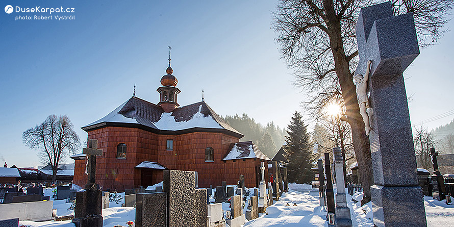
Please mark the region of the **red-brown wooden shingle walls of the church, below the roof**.
MULTIPOLYGON (((97 139, 98 148, 103 149, 103 156, 96 157, 96 183, 103 190, 138 188, 141 170, 134 167, 143 161, 159 162, 169 169, 197 171, 199 187, 220 186, 222 181, 234 185, 240 174, 245 176, 246 187, 256 187, 256 166, 263 161, 240 159, 224 163, 221 159, 238 138, 223 133, 158 135, 136 128, 106 127, 88 132, 88 139, 97 139), (166 150, 168 139, 173 140, 173 150, 166 150), (127 145, 126 159, 116 158, 119 143, 127 145), (205 148, 208 146, 214 149, 214 162, 205 162, 205 148)), ((162 171, 154 170, 153 184, 162 180, 162 171)), ((83 186, 86 181, 85 160, 75 160, 74 184, 83 186)))

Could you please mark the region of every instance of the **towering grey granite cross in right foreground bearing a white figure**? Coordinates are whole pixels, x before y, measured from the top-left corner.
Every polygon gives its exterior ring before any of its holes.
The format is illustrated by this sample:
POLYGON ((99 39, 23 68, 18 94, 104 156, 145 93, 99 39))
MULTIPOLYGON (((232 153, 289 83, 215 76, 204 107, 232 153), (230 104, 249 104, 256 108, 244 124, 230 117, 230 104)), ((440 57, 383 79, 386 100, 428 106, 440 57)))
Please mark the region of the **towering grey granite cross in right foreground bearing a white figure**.
POLYGON ((419 55, 413 14, 393 16, 391 2, 362 8, 356 37, 356 74, 369 75, 373 222, 376 226, 426 226, 402 75, 419 55), (369 60, 370 72, 366 72, 369 60))

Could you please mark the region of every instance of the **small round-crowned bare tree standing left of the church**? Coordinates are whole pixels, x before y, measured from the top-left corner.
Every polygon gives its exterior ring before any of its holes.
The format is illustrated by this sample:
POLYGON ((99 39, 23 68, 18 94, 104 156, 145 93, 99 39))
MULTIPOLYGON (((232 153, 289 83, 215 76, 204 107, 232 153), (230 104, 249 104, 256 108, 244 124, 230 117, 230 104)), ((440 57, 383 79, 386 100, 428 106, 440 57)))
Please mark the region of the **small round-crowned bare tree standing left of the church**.
POLYGON ((68 154, 74 154, 80 146, 80 139, 74 131, 68 116, 49 115, 22 134, 23 143, 37 149, 38 157, 45 165, 52 167, 52 181, 56 181, 58 165, 68 154))

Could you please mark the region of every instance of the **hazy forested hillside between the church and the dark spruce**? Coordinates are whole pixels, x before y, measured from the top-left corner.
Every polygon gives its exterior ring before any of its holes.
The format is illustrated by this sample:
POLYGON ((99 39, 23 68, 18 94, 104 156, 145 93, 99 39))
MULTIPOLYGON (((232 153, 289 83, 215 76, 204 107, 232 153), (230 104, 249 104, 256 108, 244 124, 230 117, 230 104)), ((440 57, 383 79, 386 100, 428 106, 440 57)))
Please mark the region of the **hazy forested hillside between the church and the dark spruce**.
POLYGON ((235 116, 227 115, 223 119, 244 135, 240 141, 252 140, 263 154, 270 159, 274 157, 284 143, 285 129, 274 125, 272 121, 262 125, 256 122, 254 118, 250 118, 246 113, 241 116, 238 114, 235 116))

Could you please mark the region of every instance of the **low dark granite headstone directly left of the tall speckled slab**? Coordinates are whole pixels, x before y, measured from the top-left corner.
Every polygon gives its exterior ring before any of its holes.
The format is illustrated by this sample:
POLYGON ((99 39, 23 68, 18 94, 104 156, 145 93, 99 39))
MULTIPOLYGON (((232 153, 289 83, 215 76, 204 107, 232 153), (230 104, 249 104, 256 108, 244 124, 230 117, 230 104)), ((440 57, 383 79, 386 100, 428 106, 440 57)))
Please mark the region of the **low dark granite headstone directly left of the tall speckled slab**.
POLYGON ((136 227, 167 226, 167 193, 136 194, 136 227))

